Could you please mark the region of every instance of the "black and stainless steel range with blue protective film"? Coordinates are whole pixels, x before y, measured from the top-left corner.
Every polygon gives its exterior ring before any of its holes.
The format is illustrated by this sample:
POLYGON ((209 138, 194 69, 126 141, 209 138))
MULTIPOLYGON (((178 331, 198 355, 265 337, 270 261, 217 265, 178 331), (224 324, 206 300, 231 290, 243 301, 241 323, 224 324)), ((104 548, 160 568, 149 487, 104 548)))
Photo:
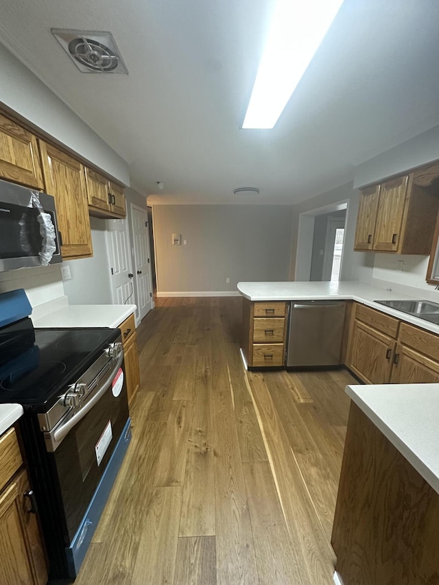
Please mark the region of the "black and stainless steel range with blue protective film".
POLYGON ((74 579, 130 442, 119 329, 34 329, 0 295, 0 402, 19 403, 52 580, 74 579))

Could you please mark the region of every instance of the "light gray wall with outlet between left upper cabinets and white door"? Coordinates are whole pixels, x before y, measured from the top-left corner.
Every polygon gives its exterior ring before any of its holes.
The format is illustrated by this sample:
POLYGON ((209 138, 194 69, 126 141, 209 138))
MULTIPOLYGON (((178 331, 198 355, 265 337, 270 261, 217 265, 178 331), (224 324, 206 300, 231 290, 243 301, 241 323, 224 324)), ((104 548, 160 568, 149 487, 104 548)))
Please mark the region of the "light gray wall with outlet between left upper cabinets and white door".
POLYGON ((70 305, 111 305, 110 267, 105 241, 105 219, 90 218, 93 258, 67 260, 71 280, 64 280, 70 305))

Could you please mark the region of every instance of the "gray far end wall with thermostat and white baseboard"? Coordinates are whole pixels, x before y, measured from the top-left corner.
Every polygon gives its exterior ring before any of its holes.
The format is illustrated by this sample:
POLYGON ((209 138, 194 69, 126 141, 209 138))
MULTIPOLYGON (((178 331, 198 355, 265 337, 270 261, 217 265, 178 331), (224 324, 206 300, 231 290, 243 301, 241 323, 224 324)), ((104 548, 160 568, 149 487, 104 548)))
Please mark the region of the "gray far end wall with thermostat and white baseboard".
POLYGON ((153 217, 158 293, 288 280, 292 206, 156 205, 153 217), (172 246, 173 233, 187 246, 172 246))

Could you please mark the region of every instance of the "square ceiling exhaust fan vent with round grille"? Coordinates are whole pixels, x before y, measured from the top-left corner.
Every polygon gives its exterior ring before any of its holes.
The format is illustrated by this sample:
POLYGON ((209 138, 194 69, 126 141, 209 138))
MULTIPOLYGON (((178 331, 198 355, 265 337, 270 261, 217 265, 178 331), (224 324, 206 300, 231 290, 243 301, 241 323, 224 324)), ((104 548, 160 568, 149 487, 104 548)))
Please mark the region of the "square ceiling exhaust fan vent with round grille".
POLYGON ((128 75, 110 32, 56 28, 51 32, 82 73, 128 75))

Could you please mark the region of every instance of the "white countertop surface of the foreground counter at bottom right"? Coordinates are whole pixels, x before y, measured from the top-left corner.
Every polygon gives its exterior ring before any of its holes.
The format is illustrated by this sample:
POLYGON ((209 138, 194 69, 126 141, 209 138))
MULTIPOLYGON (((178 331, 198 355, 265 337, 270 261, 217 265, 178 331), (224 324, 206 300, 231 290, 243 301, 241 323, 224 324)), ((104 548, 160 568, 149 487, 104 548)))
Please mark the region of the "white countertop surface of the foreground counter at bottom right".
POLYGON ((350 385, 346 393, 439 494, 439 384, 350 385))

